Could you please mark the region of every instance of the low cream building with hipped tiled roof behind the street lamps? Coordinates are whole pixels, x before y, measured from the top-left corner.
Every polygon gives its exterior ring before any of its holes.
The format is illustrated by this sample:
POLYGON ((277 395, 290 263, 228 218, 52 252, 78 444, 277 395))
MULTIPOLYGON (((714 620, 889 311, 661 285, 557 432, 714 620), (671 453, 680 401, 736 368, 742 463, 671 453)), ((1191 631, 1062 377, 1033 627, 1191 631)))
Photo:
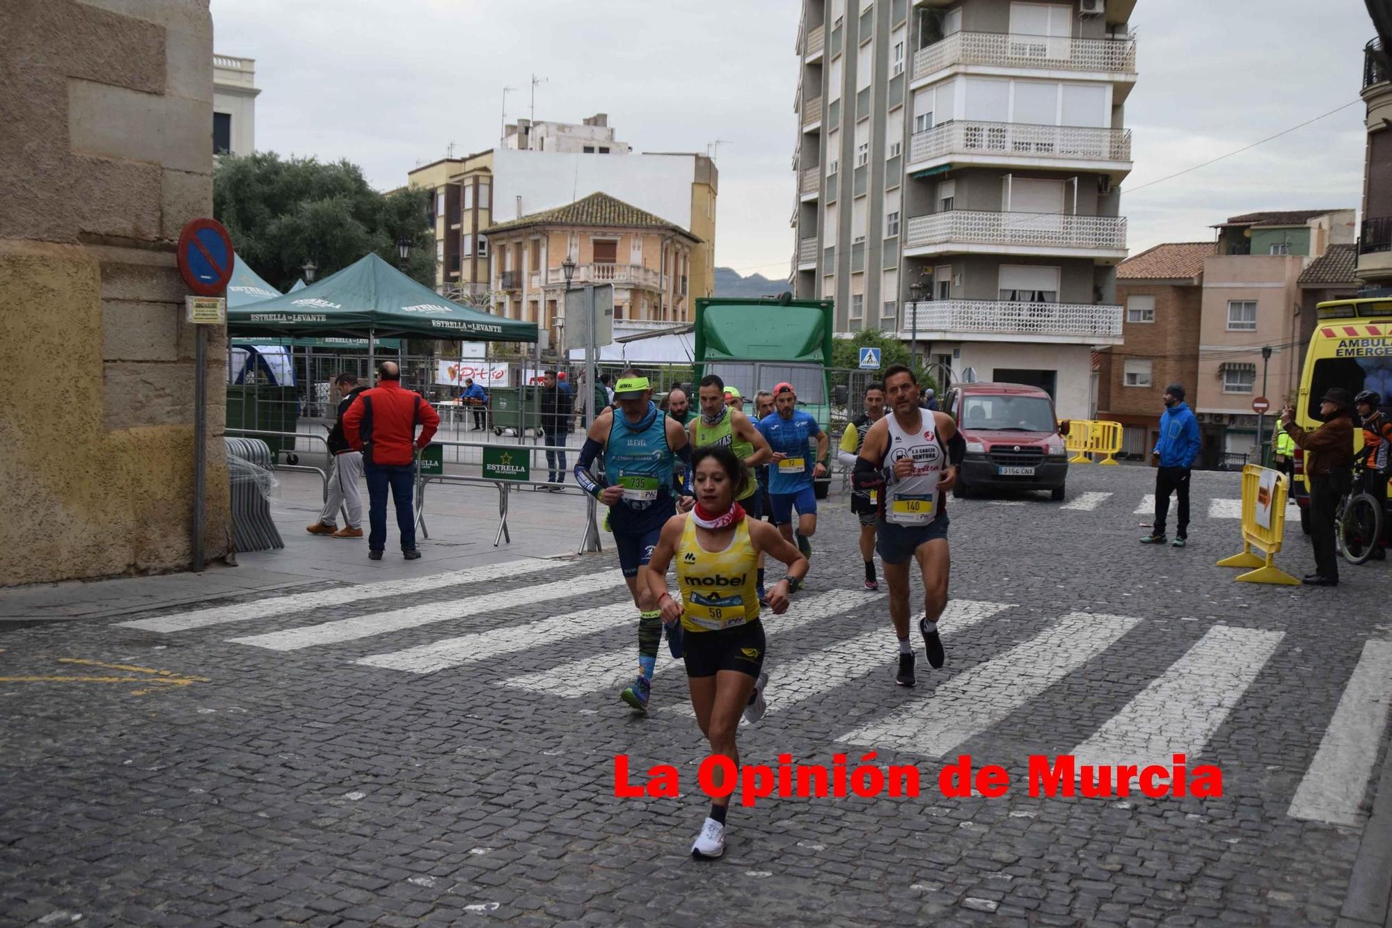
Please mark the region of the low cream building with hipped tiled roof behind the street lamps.
POLYGON ((493 312, 537 323, 553 345, 562 344, 569 257, 571 285, 614 284, 615 323, 688 321, 699 243, 681 225, 608 193, 497 223, 489 230, 493 312))

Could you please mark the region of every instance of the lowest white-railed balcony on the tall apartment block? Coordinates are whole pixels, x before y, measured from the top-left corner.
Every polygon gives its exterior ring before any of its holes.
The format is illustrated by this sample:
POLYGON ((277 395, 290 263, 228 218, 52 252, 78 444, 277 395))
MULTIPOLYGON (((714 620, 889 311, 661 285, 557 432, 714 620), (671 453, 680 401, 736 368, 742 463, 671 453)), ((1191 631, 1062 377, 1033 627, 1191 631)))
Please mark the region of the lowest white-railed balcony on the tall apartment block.
POLYGON ((1122 307, 935 299, 906 303, 899 338, 1121 345, 1122 307), (915 333, 913 326, 917 324, 915 333))

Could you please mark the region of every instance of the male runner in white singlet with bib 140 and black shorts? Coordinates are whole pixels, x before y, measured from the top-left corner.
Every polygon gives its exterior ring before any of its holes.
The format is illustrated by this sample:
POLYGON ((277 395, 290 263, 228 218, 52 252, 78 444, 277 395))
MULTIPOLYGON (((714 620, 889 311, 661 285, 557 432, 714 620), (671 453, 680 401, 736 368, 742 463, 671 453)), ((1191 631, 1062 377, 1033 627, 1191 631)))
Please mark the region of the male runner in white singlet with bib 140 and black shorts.
POLYGON ((923 619, 919 630, 928 665, 942 666, 947 655, 938 619, 948 604, 947 491, 966 451, 956 423, 942 412, 919 408, 919 383, 903 365, 884 371, 885 394, 894 415, 870 426, 852 481, 862 491, 880 490, 876 550, 889 583, 889 619, 899 639, 899 686, 913 686, 913 647, 909 644, 909 562, 923 575, 923 619), (887 466, 888 462, 888 466, 887 466))

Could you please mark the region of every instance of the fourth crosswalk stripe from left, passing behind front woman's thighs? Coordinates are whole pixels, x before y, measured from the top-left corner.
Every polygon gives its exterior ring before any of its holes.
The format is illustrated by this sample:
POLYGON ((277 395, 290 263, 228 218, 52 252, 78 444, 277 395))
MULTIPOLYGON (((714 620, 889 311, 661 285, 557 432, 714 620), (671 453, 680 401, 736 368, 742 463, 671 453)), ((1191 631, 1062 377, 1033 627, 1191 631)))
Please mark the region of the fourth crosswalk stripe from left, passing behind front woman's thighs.
MULTIPOLYGON (((853 609, 883 609, 884 594, 866 595, 860 590, 832 590, 807 598, 793 597, 792 605, 784 615, 764 615, 764 636, 774 637, 793 629, 817 622, 831 615, 851 612, 853 609)), ((636 616, 635 616, 636 625, 636 616)), ((682 666, 681 661, 663 658, 667 653, 664 641, 658 651, 657 672, 671 666, 682 666)), ((625 644, 604 654, 587 657, 580 661, 569 661, 540 673, 525 673, 503 680, 504 686, 515 686, 533 693, 550 693, 567 698, 586 696, 599 690, 607 690, 624 683, 631 683, 638 672, 638 648, 625 644)))

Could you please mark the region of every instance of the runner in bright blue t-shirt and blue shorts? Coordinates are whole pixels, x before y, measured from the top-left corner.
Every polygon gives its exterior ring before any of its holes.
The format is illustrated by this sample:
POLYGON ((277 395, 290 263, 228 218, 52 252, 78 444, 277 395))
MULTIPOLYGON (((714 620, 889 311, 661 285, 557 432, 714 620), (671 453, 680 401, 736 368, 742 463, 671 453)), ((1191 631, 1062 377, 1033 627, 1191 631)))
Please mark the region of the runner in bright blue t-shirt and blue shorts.
POLYGON ((798 394, 789 383, 774 387, 774 412, 759 422, 759 429, 768 438, 768 447, 774 452, 768 474, 768 501, 773 505, 774 525, 792 541, 792 511, 796 506, 798 550, 805 558, 812 558, 809 538, 817 531, 817 493, 812 481, 827 474, 827 466, 821 463, 830 444, 827 433, 812 413, 798 409, 798 394), (809 438, 817 440, 817 456, 810 467, 809 438))

